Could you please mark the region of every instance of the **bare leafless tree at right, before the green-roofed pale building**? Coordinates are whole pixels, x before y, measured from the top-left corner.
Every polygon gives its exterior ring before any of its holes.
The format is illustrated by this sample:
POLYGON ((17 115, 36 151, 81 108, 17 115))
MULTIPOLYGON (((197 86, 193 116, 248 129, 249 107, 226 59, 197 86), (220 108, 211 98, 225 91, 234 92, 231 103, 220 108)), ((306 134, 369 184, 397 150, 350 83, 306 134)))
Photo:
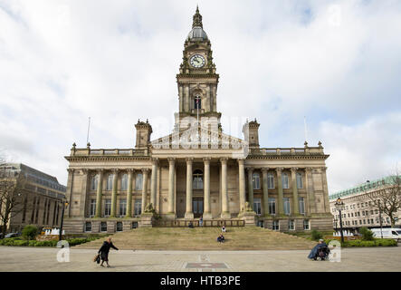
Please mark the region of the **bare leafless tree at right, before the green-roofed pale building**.
POLYGON ((396 171, 396 175, 388 177, 387 180, 388 184, 383 184, 381 189, 367 195, 373 206, 390 218, 391 227, 395 227, 396 213, 401 209, 401 177, 396 171))

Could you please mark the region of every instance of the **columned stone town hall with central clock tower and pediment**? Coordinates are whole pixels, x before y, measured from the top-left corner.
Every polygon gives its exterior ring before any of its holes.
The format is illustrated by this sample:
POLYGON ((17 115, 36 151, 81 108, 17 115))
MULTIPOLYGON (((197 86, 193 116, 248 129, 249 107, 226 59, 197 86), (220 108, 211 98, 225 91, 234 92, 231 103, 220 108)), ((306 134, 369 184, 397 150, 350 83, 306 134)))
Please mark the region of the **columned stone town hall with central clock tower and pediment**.
POLYGON ((147 120, 135 125, 133 149, 92 149, 89 143, 77 148, 74 143, 65 157, 66 232, 197 225, 201 217, 205 227, 331 229, 329 155, 321 143, 261 148, 256 120, 243 124, 243 139, 225 134, 217 111, 218 82, 196 8, 177 74, 178 111, 171 134, 152 140, 147 120))

